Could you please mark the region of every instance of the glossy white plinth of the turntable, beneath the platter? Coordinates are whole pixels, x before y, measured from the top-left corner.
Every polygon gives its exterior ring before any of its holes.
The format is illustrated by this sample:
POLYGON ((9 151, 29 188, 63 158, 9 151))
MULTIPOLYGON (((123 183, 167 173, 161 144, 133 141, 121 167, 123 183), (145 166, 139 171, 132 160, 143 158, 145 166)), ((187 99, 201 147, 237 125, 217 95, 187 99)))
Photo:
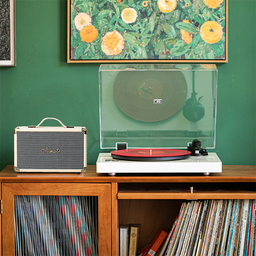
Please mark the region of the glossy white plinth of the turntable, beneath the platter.
POLYGON ((203 173, 221 172, 222 164, 216 153, 208 156, 189 157, 172 161, 125 161, 116 160, 111 153, 100 153, 96 162, 96 172, 116 175, 116 173, 203 173))

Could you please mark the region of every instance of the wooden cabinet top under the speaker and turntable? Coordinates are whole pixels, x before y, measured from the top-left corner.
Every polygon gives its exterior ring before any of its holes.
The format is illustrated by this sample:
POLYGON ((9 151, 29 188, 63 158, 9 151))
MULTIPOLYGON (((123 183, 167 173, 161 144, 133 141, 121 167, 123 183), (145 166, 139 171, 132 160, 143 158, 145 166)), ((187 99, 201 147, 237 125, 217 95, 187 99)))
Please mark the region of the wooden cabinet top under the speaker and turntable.
POLYGON ((221 173, 203 174, 108 174, 96 173, 96 166, 87 166, 87 172, 76 173, 25 173, 14 172, 14 166, 6 166, 0 172, 0 182, 65 182, 65 183, 152 183, 152 182, 256 182, 256 166, 224 165, 221 173))

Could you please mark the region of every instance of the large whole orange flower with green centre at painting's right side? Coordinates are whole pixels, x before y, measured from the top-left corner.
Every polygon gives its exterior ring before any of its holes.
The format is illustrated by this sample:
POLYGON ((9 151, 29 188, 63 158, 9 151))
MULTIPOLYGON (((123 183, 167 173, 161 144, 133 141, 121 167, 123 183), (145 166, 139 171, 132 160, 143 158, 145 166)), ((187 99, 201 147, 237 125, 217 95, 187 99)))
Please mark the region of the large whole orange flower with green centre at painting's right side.
POLYGON ((215 44, 223 35, 221 25, 216 21, 207 21, 201 26, 200 35, 208 44, 215 44))

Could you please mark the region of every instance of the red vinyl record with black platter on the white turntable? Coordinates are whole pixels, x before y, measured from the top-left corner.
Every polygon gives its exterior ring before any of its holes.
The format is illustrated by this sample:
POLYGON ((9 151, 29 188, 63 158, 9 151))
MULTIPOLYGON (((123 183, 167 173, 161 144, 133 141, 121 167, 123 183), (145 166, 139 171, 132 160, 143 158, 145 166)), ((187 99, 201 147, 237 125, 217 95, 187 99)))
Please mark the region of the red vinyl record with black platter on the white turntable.
POLYGON ((169 148, 137 148, 111 151, 111 157, 119 160, 132 161, 169 161, 190 157, 191 152, 169 148))

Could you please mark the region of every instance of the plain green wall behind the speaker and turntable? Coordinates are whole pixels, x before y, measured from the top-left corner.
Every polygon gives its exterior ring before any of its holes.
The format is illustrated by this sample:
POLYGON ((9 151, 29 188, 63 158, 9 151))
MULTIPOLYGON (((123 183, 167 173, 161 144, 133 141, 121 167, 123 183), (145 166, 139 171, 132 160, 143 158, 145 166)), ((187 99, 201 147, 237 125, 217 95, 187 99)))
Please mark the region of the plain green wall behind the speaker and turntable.
MULTIPOLYGON (((223 164, 256 162, 256 1, 229 0, 228 58, 217 64, 216 148, 223 164)), ((67 64, 67 1, 16 0, 17 67, 0 67, 0 168, 13 164, 13 130, 56 117, 88 129, 99 154, 100 64, 67 64)), ((54 123, 45 123, 45 125, 54 123)))

